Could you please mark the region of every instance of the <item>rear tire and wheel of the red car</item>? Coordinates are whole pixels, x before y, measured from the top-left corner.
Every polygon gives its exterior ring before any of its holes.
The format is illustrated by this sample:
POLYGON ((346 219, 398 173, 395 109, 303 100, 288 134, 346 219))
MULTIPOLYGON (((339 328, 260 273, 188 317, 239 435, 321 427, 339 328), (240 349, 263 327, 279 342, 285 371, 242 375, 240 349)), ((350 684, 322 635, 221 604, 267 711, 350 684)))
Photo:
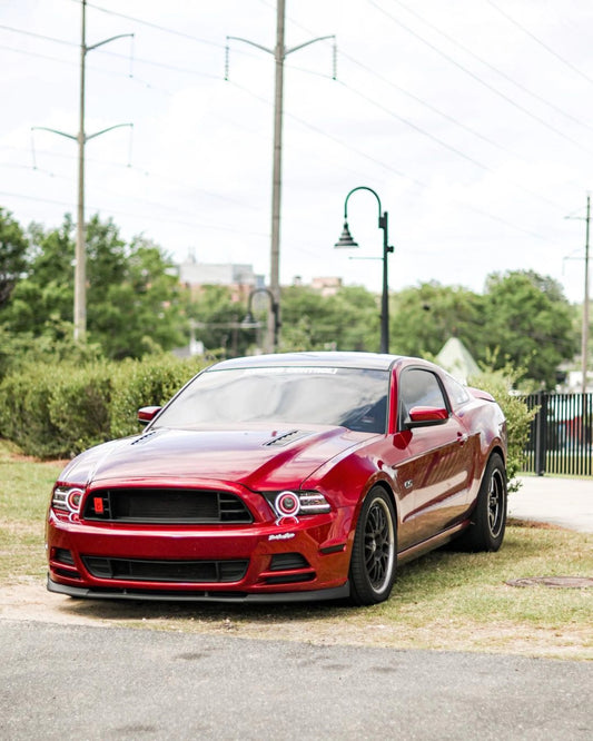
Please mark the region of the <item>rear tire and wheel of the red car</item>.
POLYGON ((472 515, 472 524, 462 543, 471 551, 497 551, 506 527, 506 470, 497 453, 491 456, 472 515))

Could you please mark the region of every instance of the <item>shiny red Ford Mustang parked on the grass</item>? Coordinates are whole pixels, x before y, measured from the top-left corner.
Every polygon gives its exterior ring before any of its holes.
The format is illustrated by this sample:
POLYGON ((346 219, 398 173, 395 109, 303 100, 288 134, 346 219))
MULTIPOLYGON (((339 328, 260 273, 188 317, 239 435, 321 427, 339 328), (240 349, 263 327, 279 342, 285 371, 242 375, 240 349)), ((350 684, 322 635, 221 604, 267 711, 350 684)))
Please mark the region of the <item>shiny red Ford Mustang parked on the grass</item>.
POLYGON ((225 360, 138 416, 142 434, 82 453, 53 487, 52 592, 373 604, 397 563, 503 541, 504 416, 425 360, 225 360))

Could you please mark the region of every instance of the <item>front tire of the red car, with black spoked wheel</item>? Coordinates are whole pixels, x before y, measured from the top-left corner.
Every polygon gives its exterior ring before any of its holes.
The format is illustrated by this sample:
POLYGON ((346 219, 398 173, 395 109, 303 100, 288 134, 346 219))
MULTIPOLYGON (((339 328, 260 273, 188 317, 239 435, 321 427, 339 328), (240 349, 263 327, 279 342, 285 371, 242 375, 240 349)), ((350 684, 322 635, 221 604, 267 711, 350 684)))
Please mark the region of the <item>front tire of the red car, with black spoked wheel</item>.
POLYGON ((393 503, 375 486, 364 501, 354 535, 349 572, 354 604, 378 604, 388 599, 397 562, 396 535, 393 503))

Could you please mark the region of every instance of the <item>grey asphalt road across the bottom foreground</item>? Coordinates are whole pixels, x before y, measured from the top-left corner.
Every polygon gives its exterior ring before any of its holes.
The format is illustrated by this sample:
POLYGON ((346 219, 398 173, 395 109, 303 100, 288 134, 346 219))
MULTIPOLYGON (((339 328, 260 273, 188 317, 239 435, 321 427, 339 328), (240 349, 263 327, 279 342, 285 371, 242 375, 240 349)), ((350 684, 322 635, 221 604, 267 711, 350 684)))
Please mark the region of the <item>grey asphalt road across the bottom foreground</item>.
POLYGON ((593 738, 593 664, 0 622, 2 739, 593 738))

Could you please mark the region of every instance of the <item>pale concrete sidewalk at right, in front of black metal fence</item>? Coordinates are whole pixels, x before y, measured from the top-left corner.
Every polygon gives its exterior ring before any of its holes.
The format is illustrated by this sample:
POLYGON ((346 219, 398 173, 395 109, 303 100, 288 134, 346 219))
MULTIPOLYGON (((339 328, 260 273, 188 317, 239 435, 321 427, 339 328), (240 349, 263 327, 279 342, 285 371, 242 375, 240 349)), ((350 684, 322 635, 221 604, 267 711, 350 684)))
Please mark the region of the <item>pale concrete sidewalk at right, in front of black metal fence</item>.
POLYGON ((593 478, 520 476, 508 495, 508 516, 593 533, 593 478))

